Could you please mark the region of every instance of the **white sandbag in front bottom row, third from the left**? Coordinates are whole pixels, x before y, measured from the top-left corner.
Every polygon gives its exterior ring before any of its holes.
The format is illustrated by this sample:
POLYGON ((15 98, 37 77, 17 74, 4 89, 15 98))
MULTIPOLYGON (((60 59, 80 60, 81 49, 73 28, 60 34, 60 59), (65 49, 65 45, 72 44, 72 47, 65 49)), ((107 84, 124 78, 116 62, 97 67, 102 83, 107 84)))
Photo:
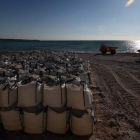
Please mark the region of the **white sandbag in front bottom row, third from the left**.
POLYGON ((69 129, 68 119, 69 111, 66 107, 48 108, 46 130, 56 134, 65 134, 69 129))

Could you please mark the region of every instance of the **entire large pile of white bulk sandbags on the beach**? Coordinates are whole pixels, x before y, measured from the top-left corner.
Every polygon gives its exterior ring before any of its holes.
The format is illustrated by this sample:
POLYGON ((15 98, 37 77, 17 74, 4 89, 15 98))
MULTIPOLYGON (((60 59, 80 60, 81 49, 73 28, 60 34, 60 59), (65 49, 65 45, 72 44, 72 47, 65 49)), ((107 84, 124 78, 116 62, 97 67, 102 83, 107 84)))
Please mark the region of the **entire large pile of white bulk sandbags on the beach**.
POLYGON ((91 135, 90 64, 75 53, 20 52, 1 58, 0 122, 6 130, 91 135))

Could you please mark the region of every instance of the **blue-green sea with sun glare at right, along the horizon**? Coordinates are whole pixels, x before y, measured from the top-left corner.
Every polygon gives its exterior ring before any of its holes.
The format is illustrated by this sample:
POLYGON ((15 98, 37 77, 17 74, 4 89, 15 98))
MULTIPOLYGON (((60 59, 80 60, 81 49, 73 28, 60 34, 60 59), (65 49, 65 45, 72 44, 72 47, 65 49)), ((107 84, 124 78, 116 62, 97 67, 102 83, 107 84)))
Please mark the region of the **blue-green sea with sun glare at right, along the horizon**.
POLYGON ((140 49, 139 41, 0 41, 0 51, 74 51, 99 52, 101 43, 107 46, 118 47, 120 53, 137 53, 140 49))

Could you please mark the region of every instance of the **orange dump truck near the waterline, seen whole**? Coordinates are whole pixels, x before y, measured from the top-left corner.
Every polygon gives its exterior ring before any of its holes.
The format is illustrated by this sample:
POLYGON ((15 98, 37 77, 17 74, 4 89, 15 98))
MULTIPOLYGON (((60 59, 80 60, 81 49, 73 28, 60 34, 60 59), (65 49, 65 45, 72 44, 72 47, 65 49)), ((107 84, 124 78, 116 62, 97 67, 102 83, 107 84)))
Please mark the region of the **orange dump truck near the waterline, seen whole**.
POLYGON ((105 44, 102 43, 101 47, 100 47, 100 52, 102 54, 106 54, 106 52, 110 52, 111 54, 115 54, 116 49, 118 49, 118 47, 106 46, 105 44))

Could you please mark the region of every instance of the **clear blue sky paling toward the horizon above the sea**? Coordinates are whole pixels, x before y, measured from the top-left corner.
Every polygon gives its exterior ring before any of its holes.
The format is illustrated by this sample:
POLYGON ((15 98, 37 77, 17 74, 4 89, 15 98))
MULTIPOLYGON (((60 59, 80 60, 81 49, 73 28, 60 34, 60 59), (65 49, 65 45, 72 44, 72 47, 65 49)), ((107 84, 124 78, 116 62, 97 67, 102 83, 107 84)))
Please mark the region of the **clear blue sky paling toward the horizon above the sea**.
POLYGON ((0 0, 0 38, 140 40, 140 0, 0 0))

